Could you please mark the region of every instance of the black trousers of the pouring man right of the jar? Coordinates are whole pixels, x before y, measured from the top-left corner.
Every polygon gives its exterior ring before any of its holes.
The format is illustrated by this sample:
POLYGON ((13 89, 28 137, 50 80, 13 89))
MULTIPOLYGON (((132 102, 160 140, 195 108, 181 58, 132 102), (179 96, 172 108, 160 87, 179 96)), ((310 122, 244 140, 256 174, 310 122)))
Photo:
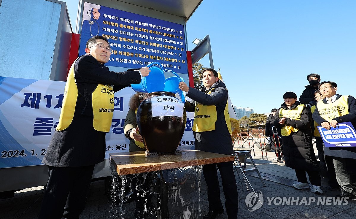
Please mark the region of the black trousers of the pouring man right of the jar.
POLYGON ((239 198, 237 197, 236 179, 234 170, 232 168, 232 161, 206 164, 203 167, 205 182, 208 186, 209 210, 219 211, 223 209, 223 204, 220 200, 220 187, 216 166, 219 169, 221 181, 223 183, 223 191, 226 199, 225 208, 227 218, 235 219, 237 218, 239 198))

